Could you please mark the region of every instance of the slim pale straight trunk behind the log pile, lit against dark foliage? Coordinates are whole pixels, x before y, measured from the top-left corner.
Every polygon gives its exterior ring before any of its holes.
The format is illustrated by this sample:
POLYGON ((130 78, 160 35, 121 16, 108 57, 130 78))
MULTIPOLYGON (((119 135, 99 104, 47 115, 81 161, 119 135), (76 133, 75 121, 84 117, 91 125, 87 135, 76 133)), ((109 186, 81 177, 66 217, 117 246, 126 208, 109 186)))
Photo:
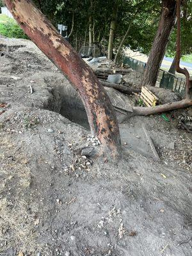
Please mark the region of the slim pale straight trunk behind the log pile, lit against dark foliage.
POLYGON ((112 60, 112 57, 113 57, 113 40, 114 40, 114 34, 116 29, 117 14, 118 14, 118 0, 115 0, 114 6, 113 6, 112 18, 111 18, 110 32, 109 32, 109 43, 108 43, 108 59, 109 60, 112 60))

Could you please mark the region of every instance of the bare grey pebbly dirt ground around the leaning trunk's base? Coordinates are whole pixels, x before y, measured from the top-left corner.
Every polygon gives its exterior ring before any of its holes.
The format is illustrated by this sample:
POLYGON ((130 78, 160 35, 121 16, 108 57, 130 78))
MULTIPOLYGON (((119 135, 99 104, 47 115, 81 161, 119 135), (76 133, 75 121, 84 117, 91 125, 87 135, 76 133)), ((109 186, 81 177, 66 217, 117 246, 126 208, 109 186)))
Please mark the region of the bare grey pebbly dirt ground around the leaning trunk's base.
POLYGON ((90 132, 67 79, 28 40, 1 37, 0 56, 0 255, 191 255, 189 134, 134 116, 120 124, 121 161, 82 156, 90 132))

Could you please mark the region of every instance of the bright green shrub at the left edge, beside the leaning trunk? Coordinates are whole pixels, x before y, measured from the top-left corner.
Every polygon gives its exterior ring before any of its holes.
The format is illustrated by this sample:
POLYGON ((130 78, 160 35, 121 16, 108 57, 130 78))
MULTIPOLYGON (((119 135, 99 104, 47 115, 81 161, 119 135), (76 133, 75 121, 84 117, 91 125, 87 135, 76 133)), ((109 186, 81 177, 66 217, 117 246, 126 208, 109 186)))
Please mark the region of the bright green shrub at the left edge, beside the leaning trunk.
POLYGON ((0 23, 0 34, 10 38, 28 38, 13 19, 0 23))

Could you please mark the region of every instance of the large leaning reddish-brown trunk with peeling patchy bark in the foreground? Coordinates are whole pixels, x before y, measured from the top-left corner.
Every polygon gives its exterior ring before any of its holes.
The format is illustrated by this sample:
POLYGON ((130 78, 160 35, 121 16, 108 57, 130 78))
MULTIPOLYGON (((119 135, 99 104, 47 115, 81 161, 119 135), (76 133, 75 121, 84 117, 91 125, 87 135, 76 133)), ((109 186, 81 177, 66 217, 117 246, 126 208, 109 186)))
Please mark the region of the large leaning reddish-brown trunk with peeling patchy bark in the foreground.
POLYGON ((121 149, 113 106, 93 71, 30 0, 5 0, 26 35, 60 68, 79 92, 92 134, 113 154, 121 149))

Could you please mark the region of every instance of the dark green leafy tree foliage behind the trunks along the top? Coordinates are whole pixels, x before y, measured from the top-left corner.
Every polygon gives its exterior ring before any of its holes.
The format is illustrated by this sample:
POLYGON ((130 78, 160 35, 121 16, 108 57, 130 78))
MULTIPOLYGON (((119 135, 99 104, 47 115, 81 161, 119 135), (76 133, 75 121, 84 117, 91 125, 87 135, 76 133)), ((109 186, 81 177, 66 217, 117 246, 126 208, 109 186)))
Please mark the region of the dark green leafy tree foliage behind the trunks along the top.
MULTIPOLYGON (((70 36, 70 44, 76 46, 88 44, 89 17, 92 17, 95 42, 107 49, 109 29, 113 5, 117 0, 34 0, 42 12, 52 21, 54 26, 65 24, 68 32, 74 29, 70 36)), ((182 1, 182 54, 192 52, 192 0, 182 1)), ((161 0, 118 0, 118 24, 115 31, 114 48, 122 41, 129 23, 131 29, 123 47, 129 46, 134 51, 145 54, 150 52, 156 35, 159 17, 161 15, 161 0)), ((175 55, 176 29, 173 29, 167 54, 175 55)), ((78 48, 78 47, 77 47, 78 48)))

